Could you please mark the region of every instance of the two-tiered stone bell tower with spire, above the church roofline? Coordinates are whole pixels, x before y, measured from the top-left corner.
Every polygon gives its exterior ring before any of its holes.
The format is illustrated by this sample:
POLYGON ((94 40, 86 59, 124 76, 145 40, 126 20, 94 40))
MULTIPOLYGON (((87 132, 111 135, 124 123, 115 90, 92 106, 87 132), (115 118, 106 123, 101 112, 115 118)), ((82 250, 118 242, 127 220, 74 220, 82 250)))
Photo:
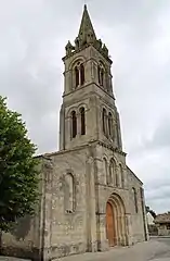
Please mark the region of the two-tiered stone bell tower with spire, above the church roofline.
POLYGON ((122 150, 107 47, 96 38, 87 5, 75 45, 65 47, 60 150, 102 141, 122 150))

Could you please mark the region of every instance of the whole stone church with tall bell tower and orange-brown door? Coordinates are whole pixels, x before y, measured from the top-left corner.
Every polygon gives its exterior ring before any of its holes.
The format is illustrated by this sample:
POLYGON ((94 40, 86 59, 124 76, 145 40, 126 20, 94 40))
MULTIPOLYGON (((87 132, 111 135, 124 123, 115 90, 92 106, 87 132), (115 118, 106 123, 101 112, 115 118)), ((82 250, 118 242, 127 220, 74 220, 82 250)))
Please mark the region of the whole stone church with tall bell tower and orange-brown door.
MULTIPOLYGON (((87 5, 63 58, 60 150, 39 157, 39 208, 2 235, 4 253, 32 260, 147 240, 142 182, 127 166, 107 47, 87 5)), ((48 136, 47 136, 48 138, 48 136)))

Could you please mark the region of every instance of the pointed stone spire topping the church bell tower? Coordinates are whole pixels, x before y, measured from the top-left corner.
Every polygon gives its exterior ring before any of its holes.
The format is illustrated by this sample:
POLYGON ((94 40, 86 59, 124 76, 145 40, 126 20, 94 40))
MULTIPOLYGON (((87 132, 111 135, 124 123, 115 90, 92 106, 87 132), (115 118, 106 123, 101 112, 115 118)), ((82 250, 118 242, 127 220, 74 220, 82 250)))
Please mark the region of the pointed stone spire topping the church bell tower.
POLYGON ((81 44, 84 44, 84 42, 90 44, 96 40, 95 32, 93 29, 90 15, 88 13, 87 4, 84 4, 84 8, 83 8, 83 14, 81 18, 78 38, 81 44))

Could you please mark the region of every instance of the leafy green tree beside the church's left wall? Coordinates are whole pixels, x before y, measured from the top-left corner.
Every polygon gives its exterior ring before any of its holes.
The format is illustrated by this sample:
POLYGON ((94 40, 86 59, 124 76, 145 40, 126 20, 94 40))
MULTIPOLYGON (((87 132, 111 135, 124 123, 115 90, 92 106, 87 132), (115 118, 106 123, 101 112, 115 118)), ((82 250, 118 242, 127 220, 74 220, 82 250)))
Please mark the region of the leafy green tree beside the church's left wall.
POLYGON ((34 214, 39 183, 35 152, 21 114, 9 110, 0 97, 0 232, 34 214))

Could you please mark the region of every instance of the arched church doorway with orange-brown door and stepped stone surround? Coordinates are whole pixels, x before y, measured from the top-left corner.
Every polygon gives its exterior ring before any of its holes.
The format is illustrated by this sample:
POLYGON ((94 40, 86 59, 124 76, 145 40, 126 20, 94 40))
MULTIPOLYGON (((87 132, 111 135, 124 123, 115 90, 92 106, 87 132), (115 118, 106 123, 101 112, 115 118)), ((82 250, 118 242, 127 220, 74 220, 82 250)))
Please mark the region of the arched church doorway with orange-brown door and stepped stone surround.
POLYGON ((113 194, 106 203, 106 238, 110 247, 127 245, 126 210, 117 194, 113 194))

